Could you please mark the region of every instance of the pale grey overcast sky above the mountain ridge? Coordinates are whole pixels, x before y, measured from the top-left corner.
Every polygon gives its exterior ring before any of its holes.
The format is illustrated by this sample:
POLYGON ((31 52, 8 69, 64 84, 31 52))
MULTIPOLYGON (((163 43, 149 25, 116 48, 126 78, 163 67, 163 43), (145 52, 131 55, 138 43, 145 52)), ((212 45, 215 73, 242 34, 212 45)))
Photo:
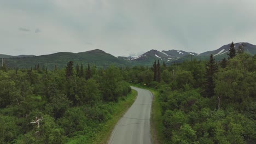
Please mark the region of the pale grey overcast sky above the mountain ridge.
POLYGON ((256 44, 255 0, 0 0, 0 53, 197 53, 256 44))

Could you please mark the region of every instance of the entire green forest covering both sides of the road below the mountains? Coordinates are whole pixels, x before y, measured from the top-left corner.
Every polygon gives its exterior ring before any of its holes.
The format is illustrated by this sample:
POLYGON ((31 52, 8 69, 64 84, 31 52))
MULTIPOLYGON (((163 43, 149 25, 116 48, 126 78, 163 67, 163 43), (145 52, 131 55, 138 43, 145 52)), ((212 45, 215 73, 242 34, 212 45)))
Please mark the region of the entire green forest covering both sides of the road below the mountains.
POLYGON ((230 47, 219 62, 211 55, 152 67, 2 67, 0 142, 90 143, 130 84, 158 92, 160 143, 256 143, 256 55, 230 47))

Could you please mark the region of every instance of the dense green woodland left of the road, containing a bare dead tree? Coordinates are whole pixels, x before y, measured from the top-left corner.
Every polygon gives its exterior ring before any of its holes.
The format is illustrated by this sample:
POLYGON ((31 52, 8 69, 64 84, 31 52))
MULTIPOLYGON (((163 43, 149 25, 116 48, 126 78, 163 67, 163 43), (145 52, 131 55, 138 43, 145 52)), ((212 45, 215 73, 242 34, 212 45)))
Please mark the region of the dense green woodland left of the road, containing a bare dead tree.
POLYGON ((130 93, 116 67, 0 70, 0 143, 66 143, 93 137, 130 93))

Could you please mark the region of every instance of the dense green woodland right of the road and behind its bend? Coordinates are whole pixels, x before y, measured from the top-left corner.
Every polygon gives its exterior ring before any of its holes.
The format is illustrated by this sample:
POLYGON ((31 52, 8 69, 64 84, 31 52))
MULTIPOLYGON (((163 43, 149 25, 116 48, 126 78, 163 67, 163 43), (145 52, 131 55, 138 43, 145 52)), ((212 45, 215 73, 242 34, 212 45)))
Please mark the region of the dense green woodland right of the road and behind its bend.
POLYGON ((256 143, 256 55, 233 48, 221 62, 211 56, 123 72, 126 81, 159 91, 164 143, 256 143))

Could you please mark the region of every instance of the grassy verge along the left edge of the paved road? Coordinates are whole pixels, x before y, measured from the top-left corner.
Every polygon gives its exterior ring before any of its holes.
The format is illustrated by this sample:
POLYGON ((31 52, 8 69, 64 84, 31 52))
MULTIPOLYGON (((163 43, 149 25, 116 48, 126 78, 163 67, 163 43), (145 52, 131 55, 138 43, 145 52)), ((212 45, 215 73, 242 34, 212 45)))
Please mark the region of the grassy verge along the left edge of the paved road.
POLYGON ((99 125, 100 131, 97 131, 94 136, 90 139, 86 139, 86 136, 79 136, 75 137, 74 139, 70 139, 68 143, 91 143, 91 144, 98 144, 98 143, 108 143, 108 139, 112 133, 112 130, 115 127, 115 124, 119 121, 119 119, 124 115, 124 113, 131 107, 133 102, 137 97, 137 91, 132 89, 132 92, 128 94, 126 97, 123 97, 119 100, 118 103, 113 103, 112 110, 113 115, 112 118, 109 119, 106 123, 99 125))

